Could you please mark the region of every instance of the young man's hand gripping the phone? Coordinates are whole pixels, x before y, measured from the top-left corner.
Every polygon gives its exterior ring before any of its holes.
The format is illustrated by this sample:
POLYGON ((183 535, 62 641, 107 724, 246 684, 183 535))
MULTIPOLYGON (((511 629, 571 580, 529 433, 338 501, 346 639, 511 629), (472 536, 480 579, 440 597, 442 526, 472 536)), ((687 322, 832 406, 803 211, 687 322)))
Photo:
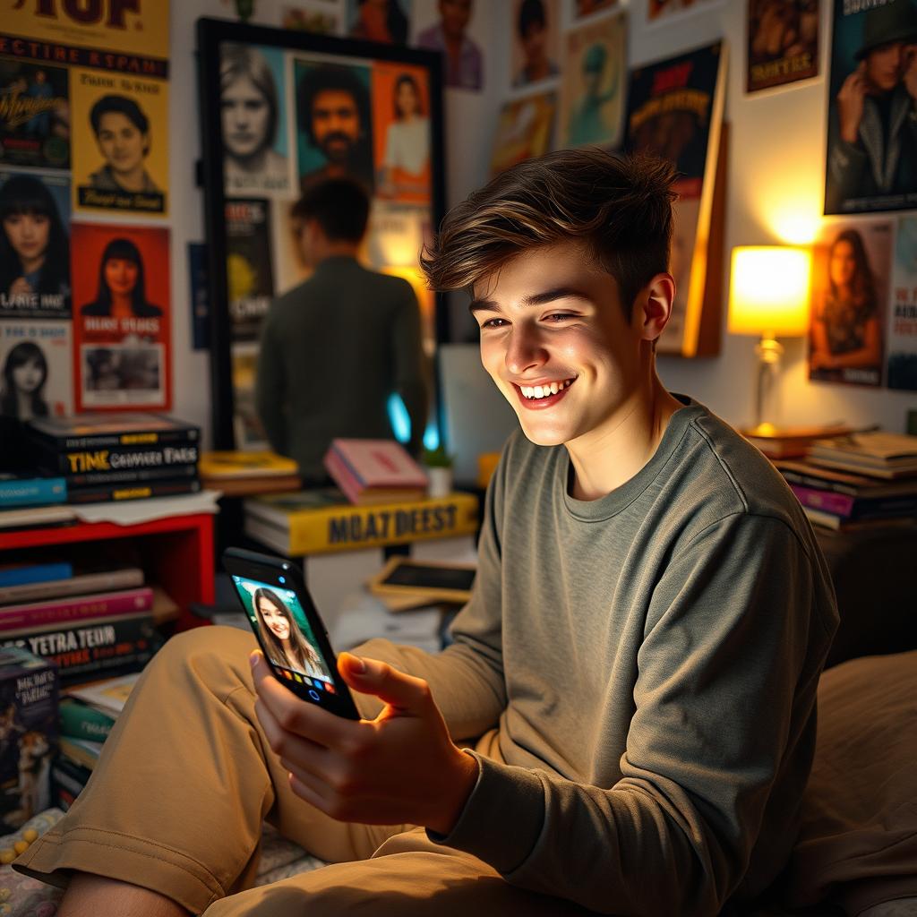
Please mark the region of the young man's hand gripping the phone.
POLYGON ((385 702, 374 720, 346 720, 299 700, 251 654, 258 715, 297 796, 339 822, 417 824, 448 834, 478 779, 478 764, 449 738, 423 679, 341 653, 353 691, 385 702))

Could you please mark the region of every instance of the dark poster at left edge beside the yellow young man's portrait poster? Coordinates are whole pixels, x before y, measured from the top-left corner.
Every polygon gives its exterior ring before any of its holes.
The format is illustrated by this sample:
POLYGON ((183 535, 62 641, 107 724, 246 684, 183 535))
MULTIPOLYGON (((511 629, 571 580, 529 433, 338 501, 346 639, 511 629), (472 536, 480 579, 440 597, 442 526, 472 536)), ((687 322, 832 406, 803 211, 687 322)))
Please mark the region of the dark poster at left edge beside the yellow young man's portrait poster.
POLYGON ((0 164, 70 168, 67 70, 0 58, 0 164))

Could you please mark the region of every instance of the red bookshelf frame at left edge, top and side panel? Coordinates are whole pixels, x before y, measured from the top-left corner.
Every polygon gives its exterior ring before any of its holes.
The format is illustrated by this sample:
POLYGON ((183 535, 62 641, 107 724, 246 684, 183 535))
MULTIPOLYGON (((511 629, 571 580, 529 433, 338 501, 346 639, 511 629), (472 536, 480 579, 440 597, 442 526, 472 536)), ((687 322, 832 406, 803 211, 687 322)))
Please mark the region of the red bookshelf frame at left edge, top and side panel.
POLYGON ((131 538, 142 541, 148 579, 181 608, 179 630, 202 624, 188 611, 192 602, 214 602, 214 517, 210 513, 168 516, 137 525, 109 522, 0 530, 0 551, 85 541, 131 538))

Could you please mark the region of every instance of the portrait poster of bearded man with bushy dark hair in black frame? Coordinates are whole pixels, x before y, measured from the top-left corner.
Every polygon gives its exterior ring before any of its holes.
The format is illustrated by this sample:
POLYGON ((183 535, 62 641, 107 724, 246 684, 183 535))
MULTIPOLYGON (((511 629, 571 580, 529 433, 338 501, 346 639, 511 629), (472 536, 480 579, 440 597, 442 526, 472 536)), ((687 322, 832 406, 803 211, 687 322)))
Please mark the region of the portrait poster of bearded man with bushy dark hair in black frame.
POLYGON ((328 178, 348 177, 371 192, 370 68, 296 60, 293 79, 301 190, 328 178))

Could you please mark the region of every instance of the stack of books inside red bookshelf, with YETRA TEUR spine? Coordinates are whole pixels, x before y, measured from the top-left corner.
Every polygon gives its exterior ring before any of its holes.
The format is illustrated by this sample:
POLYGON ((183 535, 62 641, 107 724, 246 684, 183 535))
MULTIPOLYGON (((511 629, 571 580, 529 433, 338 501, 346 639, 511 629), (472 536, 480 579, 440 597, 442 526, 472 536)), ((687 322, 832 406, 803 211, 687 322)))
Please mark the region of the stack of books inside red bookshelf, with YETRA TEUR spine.
POLYGON ((137 672, 161 644, 157 624, 177 615, 142 569, 75 570, 70 563, 0 569, 0 647, 56 663, 61 685, 137 672))

